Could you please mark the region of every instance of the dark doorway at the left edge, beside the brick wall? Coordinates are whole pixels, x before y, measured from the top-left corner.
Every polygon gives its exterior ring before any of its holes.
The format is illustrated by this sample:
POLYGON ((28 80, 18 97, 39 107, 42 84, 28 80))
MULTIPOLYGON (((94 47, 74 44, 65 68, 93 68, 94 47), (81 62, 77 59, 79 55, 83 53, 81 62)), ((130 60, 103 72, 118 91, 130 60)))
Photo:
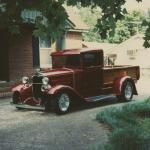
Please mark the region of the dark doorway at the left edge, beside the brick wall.
POLYGON ((8 32, 0 31, 0 80, 9 80, 8 32))

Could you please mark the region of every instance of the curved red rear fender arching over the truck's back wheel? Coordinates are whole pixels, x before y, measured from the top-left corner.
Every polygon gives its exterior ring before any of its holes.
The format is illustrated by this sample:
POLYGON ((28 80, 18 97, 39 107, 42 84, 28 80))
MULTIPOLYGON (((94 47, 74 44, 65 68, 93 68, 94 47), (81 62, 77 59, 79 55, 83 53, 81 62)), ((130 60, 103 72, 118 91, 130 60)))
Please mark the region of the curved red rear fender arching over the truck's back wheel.
POLYGON ((121 77, 121 78, 117 78, 114 81, 114 92, 115 92, 115 94, 120 95, 122 93, 123 84, 126 81, 130 81, 133 84, 133 94, 138 95, 137 89, 136 89, 136 86, 135 86, 135 82, 130 76, 124 76, 124 77, 121 77))

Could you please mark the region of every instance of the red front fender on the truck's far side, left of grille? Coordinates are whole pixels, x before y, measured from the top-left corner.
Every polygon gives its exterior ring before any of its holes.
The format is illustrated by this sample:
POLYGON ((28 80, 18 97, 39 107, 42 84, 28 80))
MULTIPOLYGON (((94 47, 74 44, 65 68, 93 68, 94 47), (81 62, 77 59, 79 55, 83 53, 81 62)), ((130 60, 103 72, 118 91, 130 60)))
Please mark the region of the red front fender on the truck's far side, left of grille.
POLYGON ((25 99, 33 96, 32 85, 30 85, 30 84, 27 84, 27 85, 20 84, 16 87, 13 87, 12 92, 13 92, 13 94, 19 93, 23 101, 25 99))

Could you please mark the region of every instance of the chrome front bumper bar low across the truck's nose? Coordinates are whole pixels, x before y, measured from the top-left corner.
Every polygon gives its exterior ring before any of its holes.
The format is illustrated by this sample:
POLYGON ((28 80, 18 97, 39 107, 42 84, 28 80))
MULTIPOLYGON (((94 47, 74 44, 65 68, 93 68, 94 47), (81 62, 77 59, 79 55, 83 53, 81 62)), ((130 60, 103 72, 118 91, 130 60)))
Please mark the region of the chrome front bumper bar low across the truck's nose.
POLYGON ((11 104, 15 106, 16 108, 20 108, 20 109, 41 110, 41 111, 45 110, 45 108, 41 106, 30 106, 26 104, 13 104, 12 102, 11 104))

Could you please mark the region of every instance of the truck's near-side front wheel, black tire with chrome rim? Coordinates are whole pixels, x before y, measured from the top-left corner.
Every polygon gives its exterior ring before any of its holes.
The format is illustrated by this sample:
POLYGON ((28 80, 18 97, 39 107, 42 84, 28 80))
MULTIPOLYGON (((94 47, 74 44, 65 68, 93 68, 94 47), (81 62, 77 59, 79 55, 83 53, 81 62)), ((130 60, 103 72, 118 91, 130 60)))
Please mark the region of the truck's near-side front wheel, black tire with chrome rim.
POLYGON ((57 114, 65 114, 70 110, 71 96, 66 92, 62 92, 52 100, 51 104, 53 111, 57 114))

